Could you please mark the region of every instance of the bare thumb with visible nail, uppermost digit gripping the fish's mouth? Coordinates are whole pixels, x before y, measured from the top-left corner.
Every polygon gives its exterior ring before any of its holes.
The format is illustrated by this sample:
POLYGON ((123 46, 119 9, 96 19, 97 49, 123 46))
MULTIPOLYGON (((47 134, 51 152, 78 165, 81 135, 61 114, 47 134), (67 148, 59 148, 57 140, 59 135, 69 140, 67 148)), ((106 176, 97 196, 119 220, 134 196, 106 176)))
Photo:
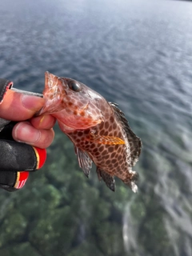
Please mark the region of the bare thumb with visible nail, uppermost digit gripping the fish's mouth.
POLYGON ((43 98, 7 90, 0 105, 1 118, 12 121, 32 118, 44 103, 45 100, 43 98))

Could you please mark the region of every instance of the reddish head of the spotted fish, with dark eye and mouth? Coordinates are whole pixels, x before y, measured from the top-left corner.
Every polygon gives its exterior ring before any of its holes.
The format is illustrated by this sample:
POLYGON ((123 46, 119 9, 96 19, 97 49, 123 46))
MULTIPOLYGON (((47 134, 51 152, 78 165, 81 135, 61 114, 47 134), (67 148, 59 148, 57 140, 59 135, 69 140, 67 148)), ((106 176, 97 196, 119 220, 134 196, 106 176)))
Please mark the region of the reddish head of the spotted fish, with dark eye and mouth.
POLYGON ((104 121, 100 104, 106 100, 100 94, 71 78, 59 78, 48 71, 45 76, 46 102, 39 115, 52 114, 59 126, 71 129, 86 129, 104 121))

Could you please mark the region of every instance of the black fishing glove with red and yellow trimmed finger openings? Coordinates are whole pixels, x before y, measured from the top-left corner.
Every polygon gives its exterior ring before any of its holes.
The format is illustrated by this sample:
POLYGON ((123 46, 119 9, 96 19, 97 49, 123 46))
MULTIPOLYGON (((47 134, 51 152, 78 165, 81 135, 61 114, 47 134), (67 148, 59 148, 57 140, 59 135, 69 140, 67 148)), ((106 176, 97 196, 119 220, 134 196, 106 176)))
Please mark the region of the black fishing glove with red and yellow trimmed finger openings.
MULTIPOLYGON (((0 103, 12 84, 0 78, 0 103)), ((0 187, 8 191, 22 188, 29 172, 38 170, 46 161, 46 150, 14 141, 15 123, 0 118, 0 187)))

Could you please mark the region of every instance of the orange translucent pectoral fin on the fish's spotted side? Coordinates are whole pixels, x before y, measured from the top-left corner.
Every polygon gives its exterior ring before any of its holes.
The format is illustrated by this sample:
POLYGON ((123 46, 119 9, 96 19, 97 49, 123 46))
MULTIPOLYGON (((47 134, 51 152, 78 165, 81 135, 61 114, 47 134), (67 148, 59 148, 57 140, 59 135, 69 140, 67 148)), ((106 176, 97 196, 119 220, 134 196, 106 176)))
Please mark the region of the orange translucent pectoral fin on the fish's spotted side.
POLYGON ((113 136, 102 136, 99 134, 90 134, 90 138, 88 138, 90 142, 105 144, 105 145, 117 145, 117 144, 125 144, 121 138, 113 137, 113 136))

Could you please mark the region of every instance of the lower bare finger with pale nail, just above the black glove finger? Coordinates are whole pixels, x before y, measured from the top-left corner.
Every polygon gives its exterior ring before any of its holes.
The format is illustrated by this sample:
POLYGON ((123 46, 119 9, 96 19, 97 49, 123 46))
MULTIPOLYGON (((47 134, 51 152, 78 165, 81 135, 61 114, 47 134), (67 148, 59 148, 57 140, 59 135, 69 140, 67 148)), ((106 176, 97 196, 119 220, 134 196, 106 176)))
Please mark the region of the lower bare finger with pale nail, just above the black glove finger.
POLYGON ((54 140, 54 130, 38 130, 30 122, 18 122, 14 126, 12 135, 15 141, 25 142, 32 146, 45 149, 54 140))

